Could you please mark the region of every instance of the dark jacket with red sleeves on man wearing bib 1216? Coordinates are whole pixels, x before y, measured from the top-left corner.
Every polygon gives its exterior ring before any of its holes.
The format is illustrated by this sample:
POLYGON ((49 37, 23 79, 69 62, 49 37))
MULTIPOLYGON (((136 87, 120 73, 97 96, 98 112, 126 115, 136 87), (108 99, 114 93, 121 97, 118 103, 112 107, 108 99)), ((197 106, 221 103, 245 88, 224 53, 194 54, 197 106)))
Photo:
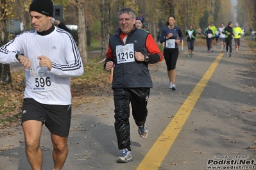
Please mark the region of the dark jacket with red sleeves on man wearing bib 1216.
POLYGON ((149 74, 148 64, 157 63, 163 59, 157 43, 155 43, 150 33, 142 29, 137 29, 134 26, 125 44, 133 43, 134 51, 148 55, 149 61, 137 61, 135 59, 134 62, 117 64, 116 47, 117 45, 124 45, 120 37, 120 32, 119 29, 110 37, 105 61, 106 63, 108 61, 114 62, 112 88, 152 88, 153 84, 149 74), (147 44, 148 47, 146 47, 147 44))

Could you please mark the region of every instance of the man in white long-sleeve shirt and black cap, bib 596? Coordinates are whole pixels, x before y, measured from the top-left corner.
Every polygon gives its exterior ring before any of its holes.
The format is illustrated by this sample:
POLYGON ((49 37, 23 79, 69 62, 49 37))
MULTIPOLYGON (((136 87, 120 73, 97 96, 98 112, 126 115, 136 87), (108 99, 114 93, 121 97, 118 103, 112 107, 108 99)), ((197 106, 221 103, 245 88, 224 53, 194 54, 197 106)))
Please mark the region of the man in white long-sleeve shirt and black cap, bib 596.
POLYGON ((3 45, 0 63, 20 62, 25 67, 22 127, 31 168, 42 169, 40 135, 45 123, 51 132, 54 168, 59 170, 68 153, 70 77, 82 75, 83 64, 73 36, 51 24, 51 0, 34 0, 30 15, 35 29, 21 33, 3 45))

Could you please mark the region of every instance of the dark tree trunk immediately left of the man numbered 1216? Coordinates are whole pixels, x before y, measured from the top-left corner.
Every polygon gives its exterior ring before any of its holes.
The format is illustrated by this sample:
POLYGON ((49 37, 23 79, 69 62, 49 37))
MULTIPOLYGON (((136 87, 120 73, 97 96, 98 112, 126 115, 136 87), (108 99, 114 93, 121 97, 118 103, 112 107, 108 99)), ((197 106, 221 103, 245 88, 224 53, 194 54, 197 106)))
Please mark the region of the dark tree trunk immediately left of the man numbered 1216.
POLYGON ((110 1, 101 1, 101 58, 105 58, 110 38, 110 1))

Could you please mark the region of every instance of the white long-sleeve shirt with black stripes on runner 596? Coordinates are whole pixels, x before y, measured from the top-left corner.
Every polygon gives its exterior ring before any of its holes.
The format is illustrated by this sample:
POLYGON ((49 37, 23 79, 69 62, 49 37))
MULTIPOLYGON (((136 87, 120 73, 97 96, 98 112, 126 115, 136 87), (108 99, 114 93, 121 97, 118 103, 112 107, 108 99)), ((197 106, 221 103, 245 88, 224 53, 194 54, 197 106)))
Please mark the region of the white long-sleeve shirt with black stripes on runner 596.
POLYGON ((55 27, 48 35, 26 31, 0 48, 0 63, 19 62, 17 51, 31 61, 25 69, 26 89, 24 98, 33 98, 41 104, 71 104, 70 77, 83 74, 83 64, 73 36, 55 27), (46 56, 53 62, 51 70, 39 65, 38 56, 46 56))

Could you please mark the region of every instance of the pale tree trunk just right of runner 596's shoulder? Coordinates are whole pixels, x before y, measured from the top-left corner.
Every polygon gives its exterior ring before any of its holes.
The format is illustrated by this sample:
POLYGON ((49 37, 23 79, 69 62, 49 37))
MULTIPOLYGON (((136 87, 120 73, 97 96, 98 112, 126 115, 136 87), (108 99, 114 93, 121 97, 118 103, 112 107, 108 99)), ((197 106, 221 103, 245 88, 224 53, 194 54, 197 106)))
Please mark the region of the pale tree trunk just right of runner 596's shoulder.
POLYGON ((85 1, 76 0, 76 16, 78 17, 78 49, 83 63, 87 63, 87 37, 85 29, 85 1))

